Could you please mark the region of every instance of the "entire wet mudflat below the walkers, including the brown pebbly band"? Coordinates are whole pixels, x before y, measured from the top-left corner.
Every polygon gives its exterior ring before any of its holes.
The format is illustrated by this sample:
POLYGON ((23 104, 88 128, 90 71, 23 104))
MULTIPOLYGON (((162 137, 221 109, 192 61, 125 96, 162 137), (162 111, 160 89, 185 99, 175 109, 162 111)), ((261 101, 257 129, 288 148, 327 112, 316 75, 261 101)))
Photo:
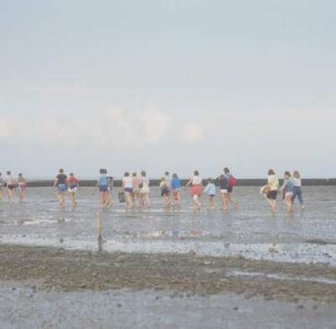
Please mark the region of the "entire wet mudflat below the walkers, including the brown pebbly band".
POLYGON ((0 204, 0 328, 335 329, 335 186, 290 216, 255 190, 225 214, 188 191, 166 212, 157 189, 145 212, 101 211, 90 188, 77 209, 53 189, 0 204))

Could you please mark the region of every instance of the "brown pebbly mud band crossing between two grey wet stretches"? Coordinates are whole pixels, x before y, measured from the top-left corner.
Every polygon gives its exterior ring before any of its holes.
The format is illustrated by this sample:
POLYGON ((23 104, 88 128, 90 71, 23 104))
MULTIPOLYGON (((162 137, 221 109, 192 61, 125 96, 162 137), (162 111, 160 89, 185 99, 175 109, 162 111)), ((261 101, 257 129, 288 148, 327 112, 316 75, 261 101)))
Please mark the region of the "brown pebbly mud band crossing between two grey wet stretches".
POLYGON ((0 246, 0 280, 46 291, 155 290, 336 303, 336 269, 194 254, 92 253, 0 246))

